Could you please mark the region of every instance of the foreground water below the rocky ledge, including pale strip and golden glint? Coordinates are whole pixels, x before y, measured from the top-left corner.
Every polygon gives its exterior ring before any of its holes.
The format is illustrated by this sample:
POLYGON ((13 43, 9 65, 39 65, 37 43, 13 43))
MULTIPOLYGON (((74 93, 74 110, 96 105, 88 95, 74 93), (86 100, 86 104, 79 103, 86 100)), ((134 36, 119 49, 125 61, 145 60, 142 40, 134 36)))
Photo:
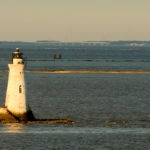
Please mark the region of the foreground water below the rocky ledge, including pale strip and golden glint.
POLYGON ((1 127, 3 149, 149 149, 149 129, 19 126, 1 127))

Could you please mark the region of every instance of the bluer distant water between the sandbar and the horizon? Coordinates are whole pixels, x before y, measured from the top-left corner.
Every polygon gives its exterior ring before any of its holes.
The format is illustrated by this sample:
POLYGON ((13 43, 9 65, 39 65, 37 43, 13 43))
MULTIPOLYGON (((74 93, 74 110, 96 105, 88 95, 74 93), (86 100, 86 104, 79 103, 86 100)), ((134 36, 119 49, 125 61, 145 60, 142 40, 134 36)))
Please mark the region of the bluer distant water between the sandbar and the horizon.
POLYGON ((144 46, 130 46, 135 42, 112 42, 109 45, 89 43, 0 43, 0 68, 7 70, 11 53, 20 47, 28 70, 36 69, 100 69, 149 70, 150 42, 144 46), (54 59, 54 55, 62 59, 54 59))

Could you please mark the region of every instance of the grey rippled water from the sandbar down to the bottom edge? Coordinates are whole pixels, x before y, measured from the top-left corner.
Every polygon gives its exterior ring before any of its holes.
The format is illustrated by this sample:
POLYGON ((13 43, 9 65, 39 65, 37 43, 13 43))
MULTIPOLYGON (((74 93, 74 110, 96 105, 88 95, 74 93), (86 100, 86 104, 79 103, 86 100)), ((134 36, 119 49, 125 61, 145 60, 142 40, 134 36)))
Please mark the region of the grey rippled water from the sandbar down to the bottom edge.
POLYGON ((75 123, 1 125, 1 149, 150 148, 149 75, 25 74, 37 118, 75 123))

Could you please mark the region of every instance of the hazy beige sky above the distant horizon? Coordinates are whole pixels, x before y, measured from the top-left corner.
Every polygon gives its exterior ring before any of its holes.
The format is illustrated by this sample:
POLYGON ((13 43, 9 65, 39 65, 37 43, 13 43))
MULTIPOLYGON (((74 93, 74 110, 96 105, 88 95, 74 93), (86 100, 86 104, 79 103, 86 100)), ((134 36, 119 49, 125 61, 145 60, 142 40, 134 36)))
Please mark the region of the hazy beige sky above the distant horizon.
POLYGON ((0 0, 0 41, 150 41, 150 0, 0 0))

